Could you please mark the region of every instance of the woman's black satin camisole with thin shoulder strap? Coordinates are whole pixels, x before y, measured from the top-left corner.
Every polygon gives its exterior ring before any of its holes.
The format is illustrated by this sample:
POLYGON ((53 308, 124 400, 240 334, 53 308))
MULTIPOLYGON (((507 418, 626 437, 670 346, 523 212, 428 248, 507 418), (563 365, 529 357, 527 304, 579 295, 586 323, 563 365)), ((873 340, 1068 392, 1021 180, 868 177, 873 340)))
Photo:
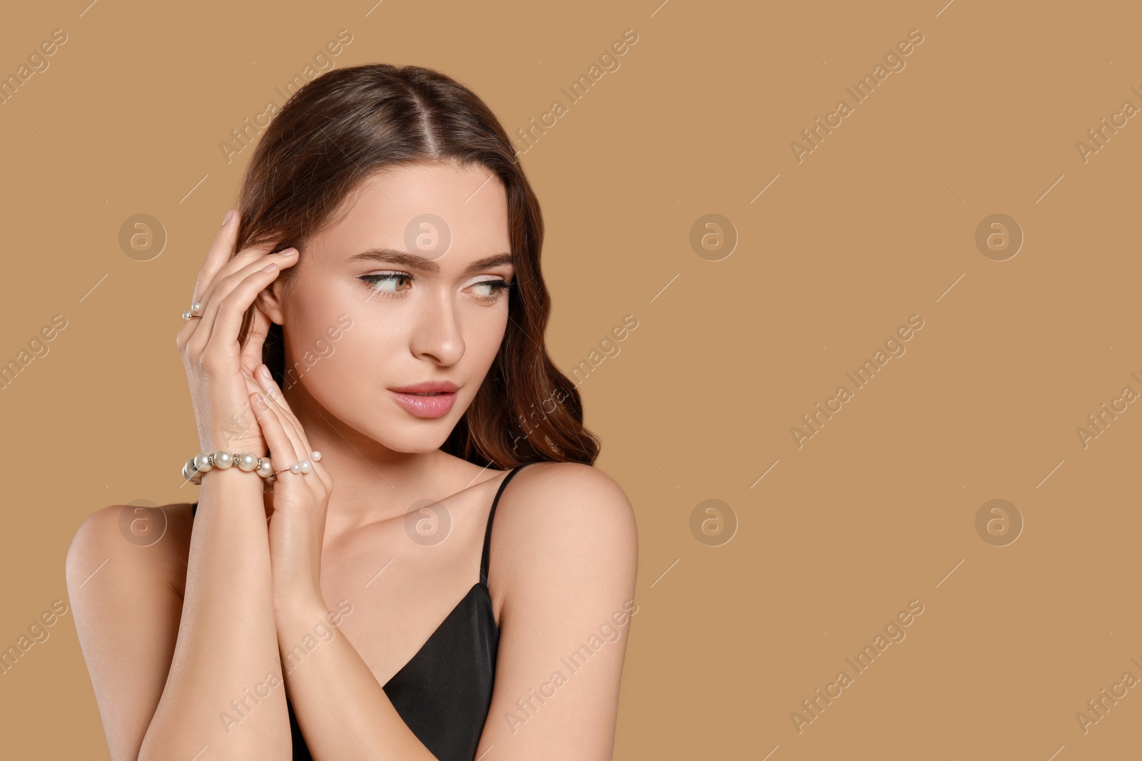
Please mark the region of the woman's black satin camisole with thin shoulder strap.
MULTIPOLYGON (((480 581, 457 604, 412 658, 385 686, 385 694, 412 734, 440 761, 472 761, 488 719, 496 674, 499 628, 488 591, 492 518, 513 468, 499 485, 488 513, 480 581)), ((192 511, 198 508, 198 502, 192 511)), ((287 698, 295 761, 313 761, 287 698)))

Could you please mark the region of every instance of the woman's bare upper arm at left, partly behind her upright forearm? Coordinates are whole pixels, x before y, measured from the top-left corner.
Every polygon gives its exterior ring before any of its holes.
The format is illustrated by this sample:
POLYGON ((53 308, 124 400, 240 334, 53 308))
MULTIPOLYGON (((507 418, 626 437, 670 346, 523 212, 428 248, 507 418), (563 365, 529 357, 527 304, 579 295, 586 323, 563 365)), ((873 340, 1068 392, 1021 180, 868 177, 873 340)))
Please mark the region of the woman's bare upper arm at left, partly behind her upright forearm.
POLYGON ((183 601, 174 574, 185 528, 160 510, 136 517, 129 507, 103 508, 67 550, 67 594, 113 761, 138 756, 178 637, 183 601), (154 529, 162 521, 162 537, 129 541, 131 520, 152 520, 154 529))

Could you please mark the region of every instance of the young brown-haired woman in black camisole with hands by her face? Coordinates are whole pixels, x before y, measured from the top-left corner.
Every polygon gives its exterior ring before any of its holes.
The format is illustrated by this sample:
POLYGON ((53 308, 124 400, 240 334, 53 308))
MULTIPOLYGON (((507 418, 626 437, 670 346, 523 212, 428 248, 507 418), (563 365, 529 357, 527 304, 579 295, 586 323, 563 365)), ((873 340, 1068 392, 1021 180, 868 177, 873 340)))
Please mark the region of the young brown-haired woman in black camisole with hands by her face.
POLYGON ((611 758, 637 535, 544 346, 542 237, 443 74, 274 118, 177 334, 199 501, 67 554, 112 759, 611 758))

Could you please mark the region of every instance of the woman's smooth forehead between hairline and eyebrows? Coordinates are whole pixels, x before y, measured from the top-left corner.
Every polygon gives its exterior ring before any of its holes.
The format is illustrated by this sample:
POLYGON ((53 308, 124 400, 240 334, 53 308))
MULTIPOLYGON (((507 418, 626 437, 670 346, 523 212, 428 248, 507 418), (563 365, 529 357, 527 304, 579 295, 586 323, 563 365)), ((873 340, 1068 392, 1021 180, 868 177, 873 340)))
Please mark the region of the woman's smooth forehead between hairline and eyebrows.
POLYGON ((336 216, 340 221, 313 238, 322 258, 345 258, 372 248, 431 256, 425 245, 447 241, 447 254, 440 258, 447 268, 510 251, 507 194, 484 167, 385 168, 363 180, 345 203, 351 205, 344 217, 336 216))

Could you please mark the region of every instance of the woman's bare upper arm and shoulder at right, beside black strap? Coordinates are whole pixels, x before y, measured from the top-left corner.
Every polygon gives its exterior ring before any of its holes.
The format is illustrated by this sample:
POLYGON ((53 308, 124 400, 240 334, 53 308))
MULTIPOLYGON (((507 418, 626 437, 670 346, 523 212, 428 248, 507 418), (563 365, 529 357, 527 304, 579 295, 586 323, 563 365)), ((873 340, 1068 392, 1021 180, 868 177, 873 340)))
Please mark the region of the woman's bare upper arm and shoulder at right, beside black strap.
POLYGON ((634 511, 609 476, 545 463, 514 478, 493 524, 504 602, 477 755, 611 758, 637 560, 634 511))

